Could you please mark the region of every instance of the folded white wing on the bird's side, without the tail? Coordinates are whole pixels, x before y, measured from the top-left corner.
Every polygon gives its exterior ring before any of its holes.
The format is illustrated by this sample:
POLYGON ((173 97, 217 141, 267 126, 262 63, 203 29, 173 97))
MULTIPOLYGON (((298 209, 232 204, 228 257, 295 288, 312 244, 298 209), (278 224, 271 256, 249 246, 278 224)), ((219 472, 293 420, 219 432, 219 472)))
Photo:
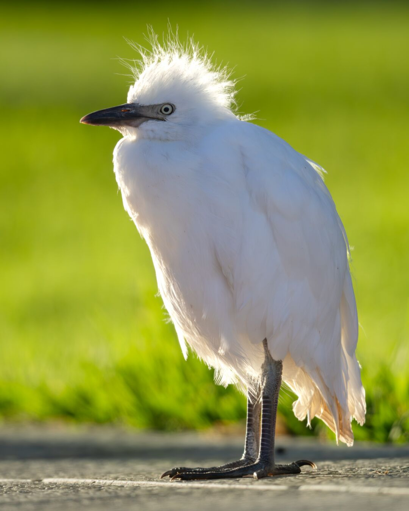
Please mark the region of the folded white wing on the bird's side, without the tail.
POLYGON ((265 323, 267 338, 279 339, 271 349, 283 355, 286 346, 297 361, 332 334, 348 270, 345 230, 316 164, 245 127, 235 137, 247 192, 242 239, 227 273, 249 337, 261 342, 265 323))

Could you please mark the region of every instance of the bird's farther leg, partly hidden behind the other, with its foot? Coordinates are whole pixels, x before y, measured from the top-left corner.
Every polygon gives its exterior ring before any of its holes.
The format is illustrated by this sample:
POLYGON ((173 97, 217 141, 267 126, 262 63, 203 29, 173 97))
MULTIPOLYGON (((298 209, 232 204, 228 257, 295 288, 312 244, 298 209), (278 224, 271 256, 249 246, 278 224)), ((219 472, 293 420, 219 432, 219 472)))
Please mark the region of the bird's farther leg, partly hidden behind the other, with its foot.
POLYGON ((252 464, 256 461, 259 451, 259 439, 260 439, 260 388, 257 385, 255 396, 247 396, 247 423, 246 423, 246 438, 244 444, 244 452, 242 457, 237 461, 231 461, 225 463, 219 467, 175 467, 171 470, 164 472, 162 477, 173 477, 176 474, 181 473, 206 473, 206 472, 217 472, 222 470, 234 469, 237 467, 244 467, 245 465, 252 464))

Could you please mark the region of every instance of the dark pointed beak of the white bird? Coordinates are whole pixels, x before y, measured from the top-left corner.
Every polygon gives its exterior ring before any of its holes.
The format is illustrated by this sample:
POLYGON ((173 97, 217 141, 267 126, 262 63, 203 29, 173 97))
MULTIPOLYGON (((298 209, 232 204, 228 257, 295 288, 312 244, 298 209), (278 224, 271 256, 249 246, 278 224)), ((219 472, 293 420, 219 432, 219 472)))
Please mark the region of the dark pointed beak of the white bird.
POLYGON ((112 128, 118 126, 136 127, 144 121, 155 119, 149 117, 148 113, 151 112, 148 112, 146 106, 138 105, 137 103, 125 103, 124 105, 88 113, 88 115, 85 115, 80 120, 80 123, 92 126, 110 126, 112 128))

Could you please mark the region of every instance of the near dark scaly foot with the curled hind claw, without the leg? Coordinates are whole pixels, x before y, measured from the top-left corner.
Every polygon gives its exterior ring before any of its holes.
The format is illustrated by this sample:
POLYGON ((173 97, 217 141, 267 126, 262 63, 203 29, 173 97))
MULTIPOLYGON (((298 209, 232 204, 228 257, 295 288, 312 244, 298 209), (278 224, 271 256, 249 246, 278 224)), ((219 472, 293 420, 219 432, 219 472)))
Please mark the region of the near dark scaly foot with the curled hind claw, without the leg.
MULTIPOLYGON (((274 465, 271 467, 269 463, 265 461, 256 461, 245 466, 239 466, 236 468, 225 468, 223 470, 209 470, 208 472, 183 472, 181 468, 180 472, 176 472, 171 477, 171 481, 180 479, 183 481, 191 481, 193 479, 227 479, 236 477, 248 477, 253 476, 255 479, 261 479, 267 476, 277 476, 282 474, 300 474, 301 467, 308 465, 313 470, 316 469, 315 463, 306 459, 300 459, 289 463, 288 465, 274 465)), ((170 472, 170 471, 169 471, 170 472)), ((165 475, 170 475, 165 472, 165 475)))

